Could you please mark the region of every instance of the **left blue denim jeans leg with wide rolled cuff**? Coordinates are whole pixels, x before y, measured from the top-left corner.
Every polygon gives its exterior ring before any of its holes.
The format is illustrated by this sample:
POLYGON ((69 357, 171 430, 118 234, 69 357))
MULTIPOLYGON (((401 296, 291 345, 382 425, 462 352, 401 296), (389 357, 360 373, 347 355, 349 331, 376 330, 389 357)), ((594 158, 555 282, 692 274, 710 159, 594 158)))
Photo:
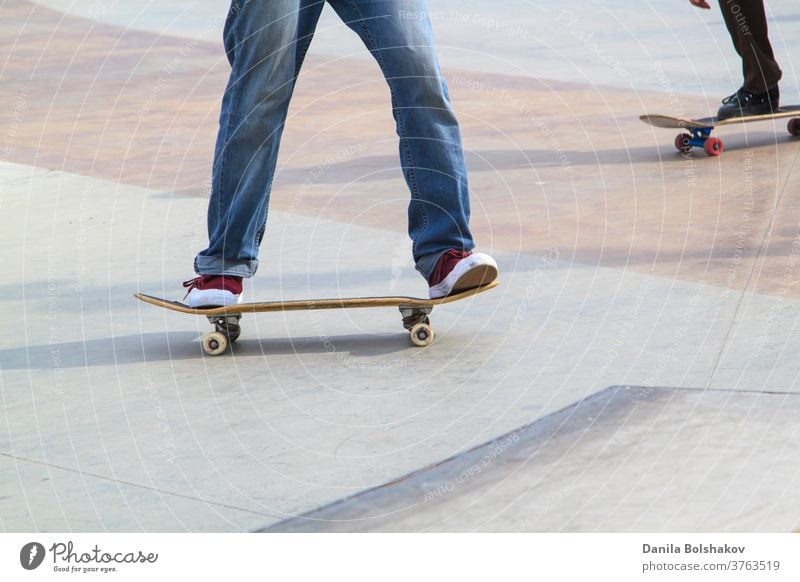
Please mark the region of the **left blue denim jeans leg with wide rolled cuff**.
POLYGON ((251 277, 289 100, 323 0, 233 0, 225 23, 231 75, 222 100, 201 275, 251 277))

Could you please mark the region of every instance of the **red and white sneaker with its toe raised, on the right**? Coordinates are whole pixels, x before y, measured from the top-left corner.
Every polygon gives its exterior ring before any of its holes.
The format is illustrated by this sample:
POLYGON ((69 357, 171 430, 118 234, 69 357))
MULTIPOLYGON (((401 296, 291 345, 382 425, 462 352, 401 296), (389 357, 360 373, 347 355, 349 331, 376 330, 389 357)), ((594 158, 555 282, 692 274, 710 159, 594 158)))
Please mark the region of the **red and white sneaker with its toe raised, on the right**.
POLYGON ((483 287, 497 279, 497 263, 484 253, 450 249, 436 263, 431 278, 428 296, 431 299, 446 297, 467 289, 483 287))

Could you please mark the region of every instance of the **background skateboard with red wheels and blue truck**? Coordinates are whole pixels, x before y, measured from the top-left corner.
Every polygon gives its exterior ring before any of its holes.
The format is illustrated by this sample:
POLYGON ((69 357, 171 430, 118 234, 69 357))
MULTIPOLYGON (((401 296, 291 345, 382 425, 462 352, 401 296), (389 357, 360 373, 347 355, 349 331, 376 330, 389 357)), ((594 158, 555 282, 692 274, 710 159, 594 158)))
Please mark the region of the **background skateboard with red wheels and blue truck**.
POLYGON ((711 137, 715 127, 733 125, 734 123, 749 123, 751 121, 767 121, 790 117, 787 129, 792 135, 800 135, 800 105, 781 107, 773 113, 763 115, 748 115, 746 117, 728 117, 718 119, 705 117, 702 119, 683 119, 668 115, 640 115, 639 119, 655 127, 687 129, 690 133, 680 133, 675 137, 675 148, 679 152, 688 154, 692 148, 702 148, 709 156, 718 156, 725 149, 725 145, 718 137, 711 137))

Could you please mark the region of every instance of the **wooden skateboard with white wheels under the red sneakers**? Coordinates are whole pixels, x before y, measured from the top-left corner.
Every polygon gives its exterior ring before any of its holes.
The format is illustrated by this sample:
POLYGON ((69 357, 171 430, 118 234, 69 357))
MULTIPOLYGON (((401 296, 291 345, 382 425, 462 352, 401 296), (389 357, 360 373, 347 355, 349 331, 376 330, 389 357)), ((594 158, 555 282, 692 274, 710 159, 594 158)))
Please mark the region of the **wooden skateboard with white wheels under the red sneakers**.
POLYGON ((227 307, 193 308, 144 293, 133 296, 140 301, 150 303, 180 313, 203 315, 214 325, 214 331, 203 338, 203 351, 209 356, 219 356, 228 351, 230 344, 239 338, 241 317, 245 313, 262 313, 267 311, 306 311, 313 309, 348 309, 367 307, 398 307, 403 317, 403 327, 411 335, 411 342, 418 347, 426 347, 433 342, 433 328, 429 315, 437 305, 452 303, 472 297, 484 291, 494 289, 500 283, 492 281, 482 287, 476 287, 439 299, 421 299, 418 297, 350 297, 343 299, 306 299, 300 301, 270 301, 266 303, 239 303, 227 307))

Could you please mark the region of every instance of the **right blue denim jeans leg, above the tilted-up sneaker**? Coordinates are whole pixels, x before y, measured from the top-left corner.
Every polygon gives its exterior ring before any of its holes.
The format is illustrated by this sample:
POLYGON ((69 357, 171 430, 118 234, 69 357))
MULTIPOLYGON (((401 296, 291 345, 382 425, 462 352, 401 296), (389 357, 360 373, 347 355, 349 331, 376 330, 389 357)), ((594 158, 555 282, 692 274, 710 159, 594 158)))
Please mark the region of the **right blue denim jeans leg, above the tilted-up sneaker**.
POLYGON ((392 94, 403 175, 411 191, 408 232, 428 278, 448 249, 472 250, 461 133, 433 47, 424 0, 329 0, 378 61, 392 94))

